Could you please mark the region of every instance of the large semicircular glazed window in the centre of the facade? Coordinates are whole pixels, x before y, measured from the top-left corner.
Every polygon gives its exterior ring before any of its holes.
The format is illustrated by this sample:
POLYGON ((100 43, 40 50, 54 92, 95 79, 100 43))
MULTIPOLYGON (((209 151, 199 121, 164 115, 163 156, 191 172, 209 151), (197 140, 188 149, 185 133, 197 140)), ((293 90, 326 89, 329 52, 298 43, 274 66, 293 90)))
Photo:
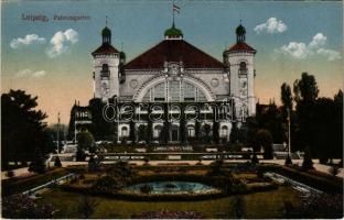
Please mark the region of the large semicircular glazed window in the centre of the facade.
POLYGON ((143 101, 206 101, 203 90, 190 82, 166 80, 150 88, 143 101))

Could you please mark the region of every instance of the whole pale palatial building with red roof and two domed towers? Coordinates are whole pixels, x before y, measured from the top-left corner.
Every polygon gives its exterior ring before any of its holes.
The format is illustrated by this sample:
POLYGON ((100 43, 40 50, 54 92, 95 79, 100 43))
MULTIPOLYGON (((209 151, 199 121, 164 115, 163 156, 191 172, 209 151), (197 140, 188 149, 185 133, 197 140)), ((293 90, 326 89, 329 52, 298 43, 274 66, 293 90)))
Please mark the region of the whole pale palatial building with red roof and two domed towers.
MULTIPOLYGON (((256 112, 256 50, 246 43, 241 24, 236 36, 221 62, 185 41, 173 22, 161 42, 126 63, 125 52, 111 44, 111 31, 106 26, 101 45, 92 53, 90 106, 103 105, 103 117, 114 124, 111 132, 118 141, 186 143, 208 136, 226 142, 233 122, 241 123, 256 112), (112 117, 106 116, 111 110, 109 103, 115 109, 112 117)), ((95 123, 92 109, 75 105, 75 124, 85 124, 86 119, 95 123)), ((83 128, 75 125, 75 132, 83 128)))

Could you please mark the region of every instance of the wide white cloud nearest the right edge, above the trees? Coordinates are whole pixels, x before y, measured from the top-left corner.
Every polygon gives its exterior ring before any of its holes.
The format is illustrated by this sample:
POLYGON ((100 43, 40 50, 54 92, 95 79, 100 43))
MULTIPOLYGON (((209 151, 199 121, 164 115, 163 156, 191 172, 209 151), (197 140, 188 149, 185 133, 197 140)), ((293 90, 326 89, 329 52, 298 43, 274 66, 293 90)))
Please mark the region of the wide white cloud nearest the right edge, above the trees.
POLYGON ((341 59, 341 53, 326 48, 327 37, 323 33, 318 33, 307 45, 302 42, 290 42, 281 48, 275 50, 277 53, 290 55, 295 59, 304 59, 313 55, 321 55, 327 61, 341 59))

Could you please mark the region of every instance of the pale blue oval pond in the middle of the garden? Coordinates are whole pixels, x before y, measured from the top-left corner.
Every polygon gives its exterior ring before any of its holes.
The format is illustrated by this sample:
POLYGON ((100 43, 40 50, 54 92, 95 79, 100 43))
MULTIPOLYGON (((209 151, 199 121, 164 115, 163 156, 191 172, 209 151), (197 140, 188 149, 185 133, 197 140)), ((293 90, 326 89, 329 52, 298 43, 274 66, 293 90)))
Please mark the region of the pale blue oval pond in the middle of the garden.
POLYGON ((126 187, 125 190, 140 194, 207 194, 218 189, 201 183, 193 182, 151 182, 126 187))

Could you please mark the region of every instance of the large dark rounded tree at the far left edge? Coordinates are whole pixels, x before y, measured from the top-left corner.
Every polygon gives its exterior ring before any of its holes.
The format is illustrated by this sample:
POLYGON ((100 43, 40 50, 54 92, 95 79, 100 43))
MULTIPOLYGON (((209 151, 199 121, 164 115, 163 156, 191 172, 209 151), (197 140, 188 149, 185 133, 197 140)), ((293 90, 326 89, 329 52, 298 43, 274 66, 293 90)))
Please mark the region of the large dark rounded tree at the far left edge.
POLYGON ((36 110, 37 97, 23 90, 1 95, 1 163, 35 161, 35 148, 45 155, 54 151, 50 133, 45 130, 46 114, 36 110))

